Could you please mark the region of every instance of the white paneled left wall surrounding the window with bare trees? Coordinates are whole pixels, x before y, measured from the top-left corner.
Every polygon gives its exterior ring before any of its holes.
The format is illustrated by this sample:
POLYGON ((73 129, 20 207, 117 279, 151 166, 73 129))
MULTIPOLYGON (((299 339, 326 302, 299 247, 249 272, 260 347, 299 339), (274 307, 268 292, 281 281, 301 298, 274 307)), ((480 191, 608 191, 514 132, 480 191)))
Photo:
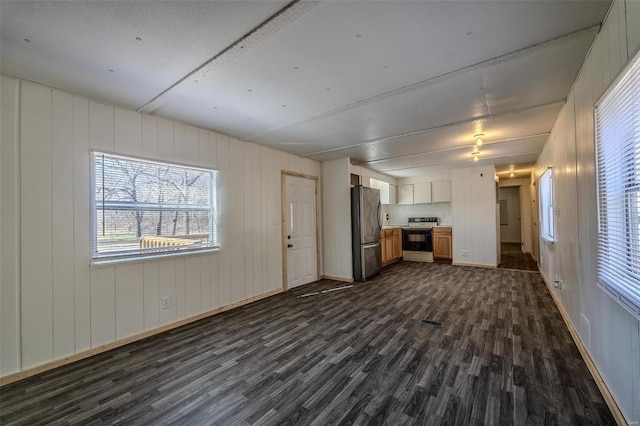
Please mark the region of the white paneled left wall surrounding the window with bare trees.
POLYGON ((1 376, 282 288, 281 170, 319 163, 8 77, 0 89, 1 376), (220 170, 221 249, 91 267, 90 149, 220 170))

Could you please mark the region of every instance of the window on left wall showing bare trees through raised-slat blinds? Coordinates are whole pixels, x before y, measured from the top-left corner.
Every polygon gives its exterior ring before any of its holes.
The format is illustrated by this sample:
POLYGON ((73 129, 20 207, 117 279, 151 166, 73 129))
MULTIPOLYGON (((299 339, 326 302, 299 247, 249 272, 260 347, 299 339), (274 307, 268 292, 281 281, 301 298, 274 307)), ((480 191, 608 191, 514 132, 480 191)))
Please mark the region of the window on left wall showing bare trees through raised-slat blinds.
POLYGON ((92 153, 93 258, 218 247, 218 171, 92 153))

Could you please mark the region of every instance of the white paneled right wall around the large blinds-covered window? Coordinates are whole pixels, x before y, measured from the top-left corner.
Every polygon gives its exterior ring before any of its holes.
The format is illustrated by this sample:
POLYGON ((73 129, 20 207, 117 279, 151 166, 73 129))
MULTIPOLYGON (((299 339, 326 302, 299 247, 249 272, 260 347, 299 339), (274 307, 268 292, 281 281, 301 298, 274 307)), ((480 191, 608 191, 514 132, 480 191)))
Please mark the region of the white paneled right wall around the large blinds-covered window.
POLYGON ((628 422, 640 421, 640 321, 597 280, 593 106, 640 46, 640 2, 615 1, 538 159, 553 167, 556 238, 540 243, 541 270, 628 422))

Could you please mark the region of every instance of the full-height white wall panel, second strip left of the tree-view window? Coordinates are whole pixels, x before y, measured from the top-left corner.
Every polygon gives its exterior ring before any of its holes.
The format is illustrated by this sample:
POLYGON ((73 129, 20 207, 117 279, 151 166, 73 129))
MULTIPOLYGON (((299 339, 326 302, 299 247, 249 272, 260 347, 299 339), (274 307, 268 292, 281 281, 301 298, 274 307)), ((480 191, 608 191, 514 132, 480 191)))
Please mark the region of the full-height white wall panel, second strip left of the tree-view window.
POLYGON ((53 357, 75 352, 73 278, 73 97, 52 92, 53 357))

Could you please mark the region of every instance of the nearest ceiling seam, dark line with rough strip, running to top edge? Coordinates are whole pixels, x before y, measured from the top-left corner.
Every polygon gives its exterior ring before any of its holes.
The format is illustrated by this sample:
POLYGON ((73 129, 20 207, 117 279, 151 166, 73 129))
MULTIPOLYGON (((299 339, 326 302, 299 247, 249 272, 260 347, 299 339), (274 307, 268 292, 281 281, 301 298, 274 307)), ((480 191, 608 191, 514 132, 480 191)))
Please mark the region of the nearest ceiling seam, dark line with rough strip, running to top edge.
POLYGON ((136 111, 145 114, 155 111, 169 100, 178 96, 194 84, 197 84, 200 79, 206 78, 209 74, 235 61, 241 55, 244 55, 291 22, 306 15, 320 3, 319 1, 304 0, 294 0, 288 3, 285 7, 251 29, 221 52, 205 61, 202 65, 186 74, 180 80, 173 83, 136 111))

